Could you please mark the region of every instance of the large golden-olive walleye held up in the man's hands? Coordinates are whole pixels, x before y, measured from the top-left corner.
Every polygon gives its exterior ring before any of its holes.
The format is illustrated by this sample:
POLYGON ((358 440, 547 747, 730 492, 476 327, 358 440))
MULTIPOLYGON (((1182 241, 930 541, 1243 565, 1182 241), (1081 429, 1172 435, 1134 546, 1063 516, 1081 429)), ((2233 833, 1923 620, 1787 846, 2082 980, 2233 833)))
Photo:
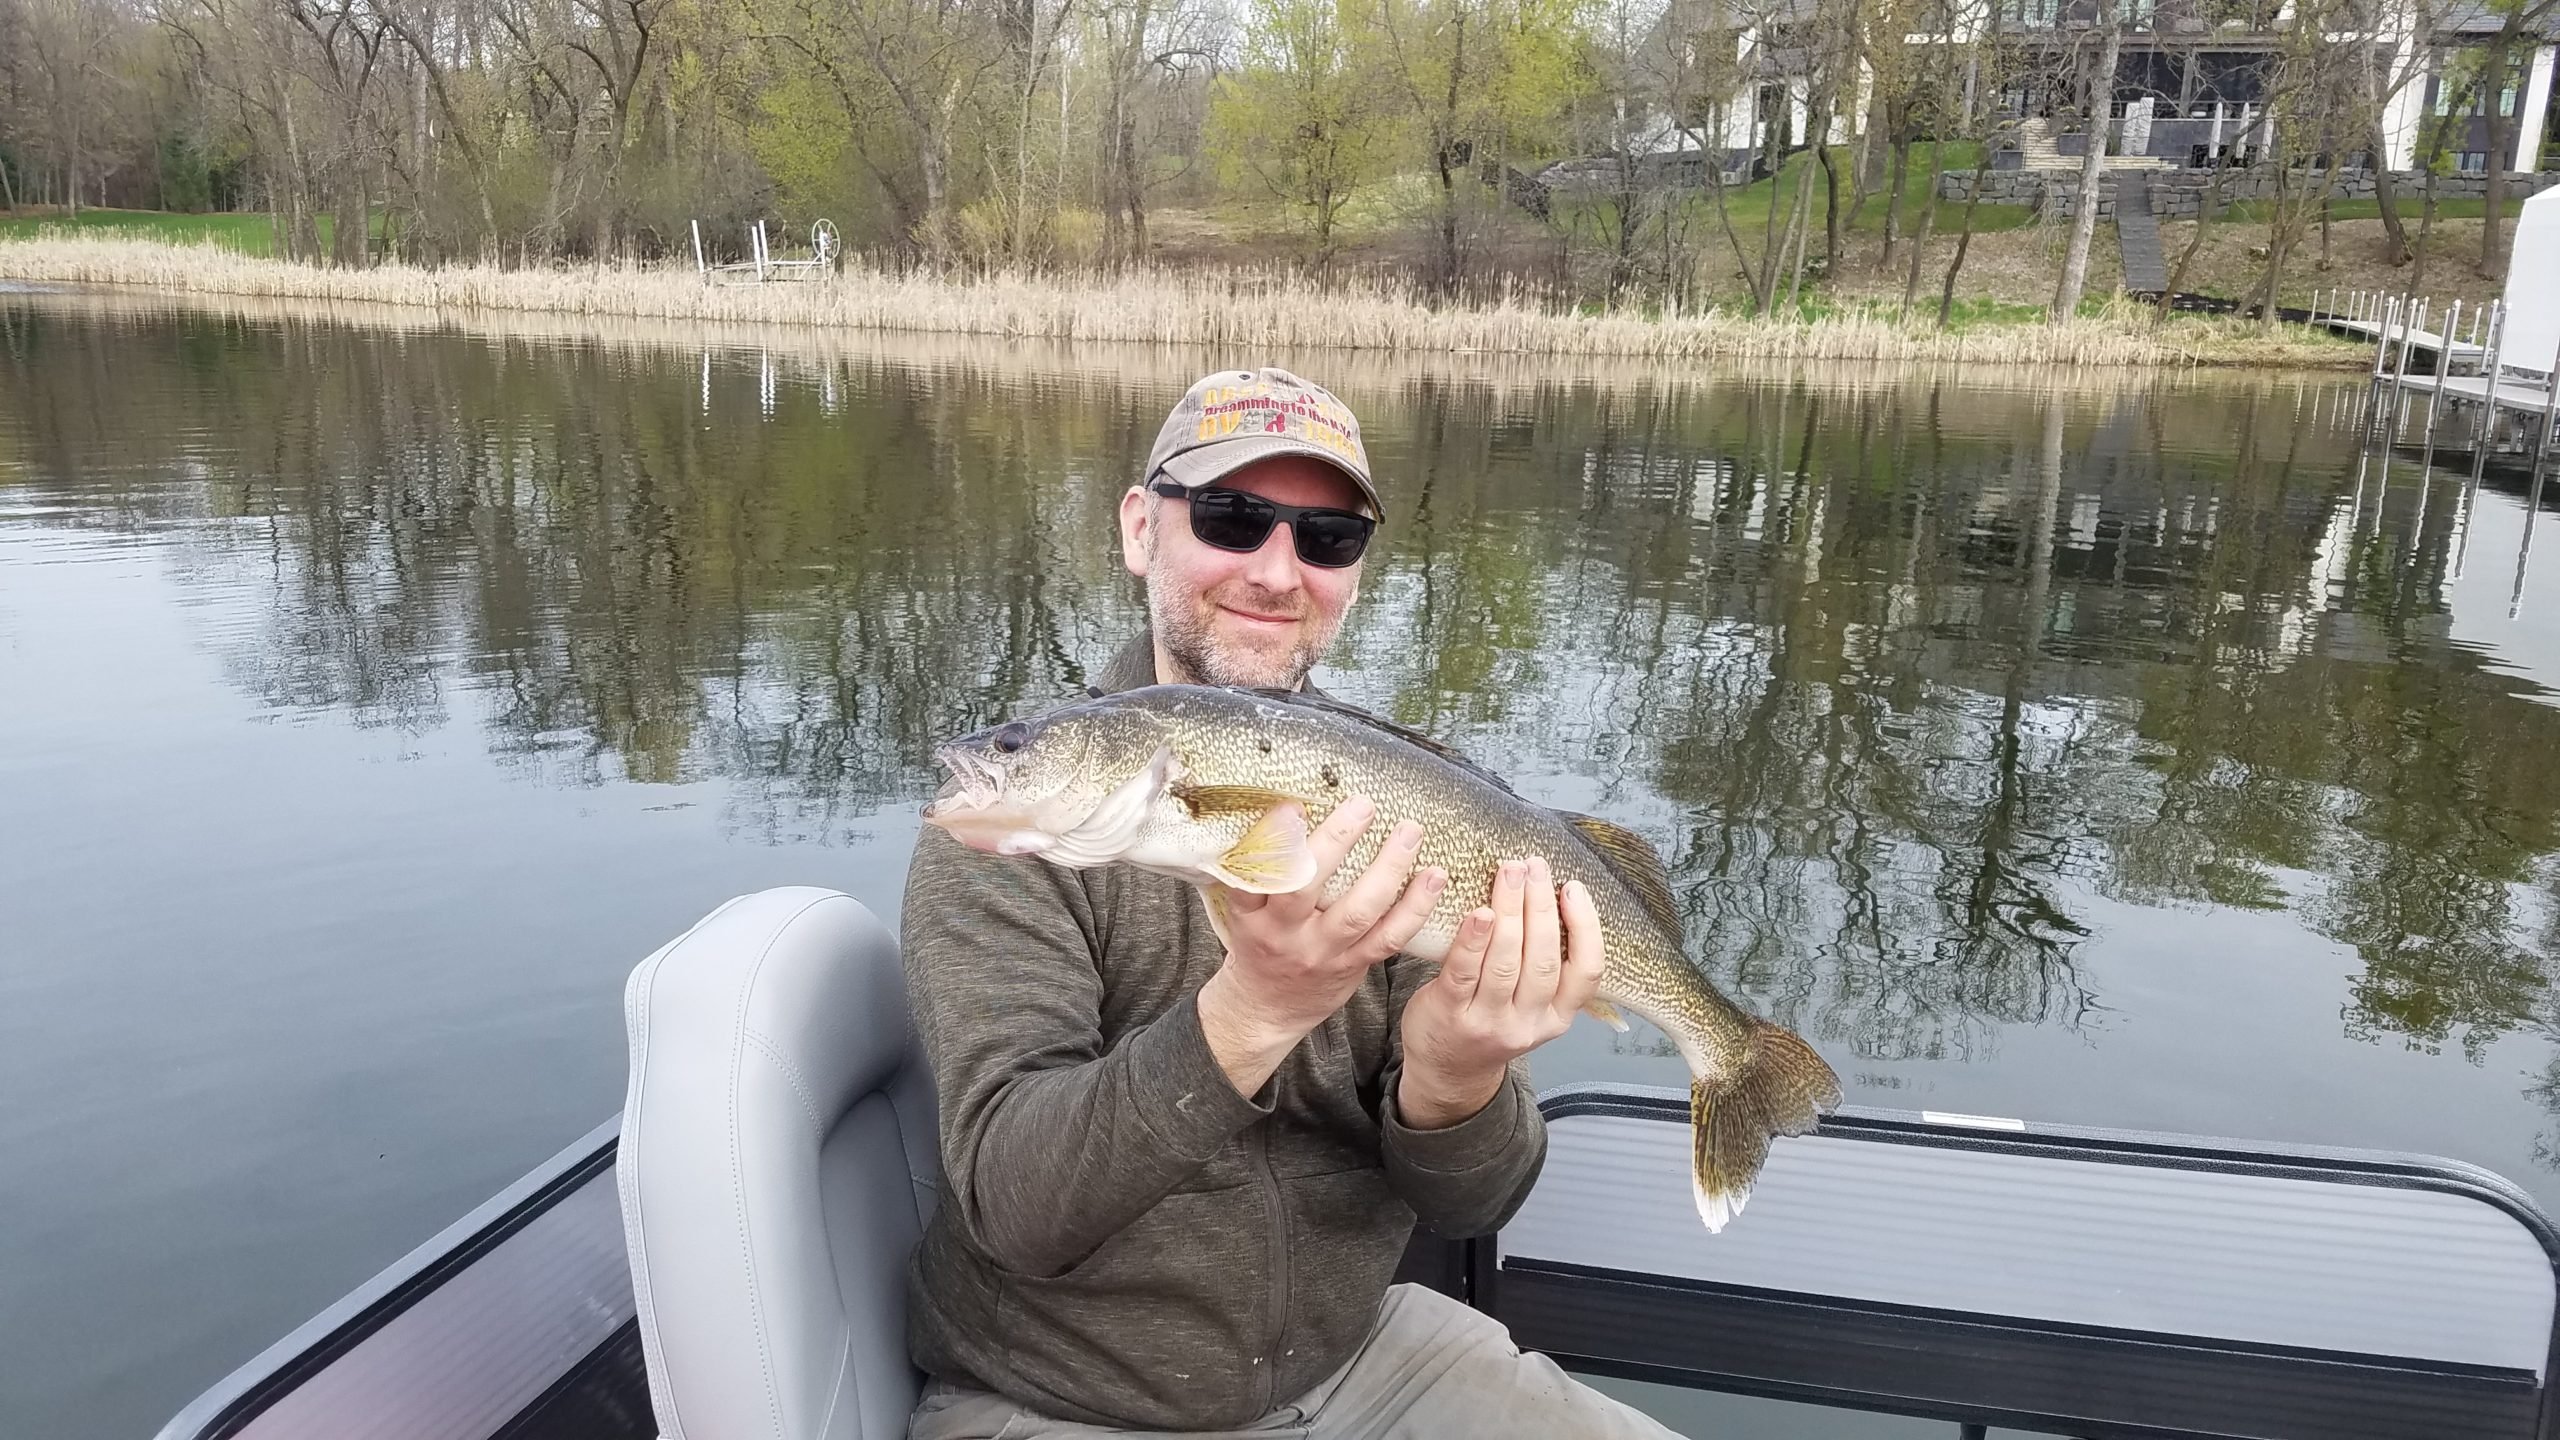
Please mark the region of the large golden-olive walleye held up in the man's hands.
POLYGON ((1380 822, 1352 846, 1324 902, 1352 887, 1398 820, 1418 822, 1416 871, 1449 871, 1405 945, 1423 961, 1449 953, 1505 858, 1546 856, 1556 884, 1580 879, 1600 912, 1608 969, 1590 1012, 1618 1030, 1618 1007, 1651 1020, 1690 1063, 1708 1230, 1741 1212, 1772 1135, 1802 1135, 1841 1102, 1812 1045, 1736 1007, 1687 961, 1672 879, 1644 838, 1531 805, 1457 751, 1364 710, 1283 689, 1155 684, 980 730, 934 761, 950 781, 924 820, 960 843, 1188 879, 1221 938, 1226 889, 1283 894, 1316 879, 1308 828, 1352 794, 1367 794, 1380 822))

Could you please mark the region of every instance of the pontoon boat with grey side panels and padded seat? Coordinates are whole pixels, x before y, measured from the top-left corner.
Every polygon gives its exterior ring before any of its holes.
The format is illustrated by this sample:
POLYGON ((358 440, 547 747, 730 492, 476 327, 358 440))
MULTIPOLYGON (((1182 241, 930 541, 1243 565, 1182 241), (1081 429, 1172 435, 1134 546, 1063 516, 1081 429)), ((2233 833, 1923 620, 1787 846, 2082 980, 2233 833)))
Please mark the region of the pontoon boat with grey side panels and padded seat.
MULTIPOLYGON (((748 894, 632 971, 625 1022, 617 1120, 161 1440, 901 1440, 940 1163, 896 938, 748 894)), ((1521 1212, 1416 1232, 1400 1279, 1572 1371, 1971 1440, 2560 1440, 2560 1230, 2460 1161, 1843 1107, 1708 1235, 1684 1094, 1539 1109, 1521 1212)))

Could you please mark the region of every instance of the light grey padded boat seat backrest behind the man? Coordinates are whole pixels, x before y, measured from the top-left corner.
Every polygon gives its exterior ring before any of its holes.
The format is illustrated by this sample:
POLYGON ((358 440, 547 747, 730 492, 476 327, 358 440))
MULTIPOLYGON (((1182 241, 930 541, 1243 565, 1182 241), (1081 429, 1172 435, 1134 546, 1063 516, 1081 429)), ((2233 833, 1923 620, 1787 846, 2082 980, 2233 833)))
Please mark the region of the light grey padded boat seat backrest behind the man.
POLYGON ((668 1440, 906 1432, 937 1191, 899 945, 832 889, 737 897, 625 989, 622 1230, 668 1440))

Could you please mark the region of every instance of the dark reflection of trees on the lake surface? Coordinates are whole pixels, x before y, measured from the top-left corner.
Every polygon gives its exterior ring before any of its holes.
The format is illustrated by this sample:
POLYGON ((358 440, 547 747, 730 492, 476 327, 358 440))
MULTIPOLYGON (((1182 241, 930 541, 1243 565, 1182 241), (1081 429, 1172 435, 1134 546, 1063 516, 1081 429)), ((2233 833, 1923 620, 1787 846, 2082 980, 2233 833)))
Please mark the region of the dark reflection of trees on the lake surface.
MULTIPOLYGON (((223 664, 264 705, 717 776, 763 840, 855 838, 1085 682, 1190 374, 36 302, 0 341, 0 495, 256 594, 223 664)), ((1339 687, 1661 843, 1782 1020, 2099 1033, 2102 899, 2350 945, 2350 1038, 2547 1017, 2560 712, 2450 641, 2465 495, 2360 459, 2353 382, 1341 369, 1395 525, 1339 687)))

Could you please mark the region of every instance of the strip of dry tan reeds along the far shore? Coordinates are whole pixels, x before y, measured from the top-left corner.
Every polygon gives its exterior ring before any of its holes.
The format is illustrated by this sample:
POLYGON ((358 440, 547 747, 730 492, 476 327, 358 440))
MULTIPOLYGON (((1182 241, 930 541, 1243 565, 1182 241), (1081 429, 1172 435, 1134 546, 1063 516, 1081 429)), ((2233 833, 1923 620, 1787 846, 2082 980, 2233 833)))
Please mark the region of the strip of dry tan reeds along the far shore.
MULTIPOLYGON (((138 238, 0 241, 0 282, 118 287, 174 297, 394 305, 438 315, 530 313, 648 323, 975 336, 1044 343, 1490 356, 1500 361, 1938 361, 2063 369, 2360 369, 2363 346, 2130 302, 2068 325, 1935 331, 1871 313, 1751 320, 1710 310, 1559 315, 1521 302, 1431 307, 1377 282, 1308 290, 1270 272, 940 277, 847 266, 812 282, 704 284, 689 266, 323 269, 218 246, 138 238)), ((468 320, 466 320, 468 323, 468 320)))

